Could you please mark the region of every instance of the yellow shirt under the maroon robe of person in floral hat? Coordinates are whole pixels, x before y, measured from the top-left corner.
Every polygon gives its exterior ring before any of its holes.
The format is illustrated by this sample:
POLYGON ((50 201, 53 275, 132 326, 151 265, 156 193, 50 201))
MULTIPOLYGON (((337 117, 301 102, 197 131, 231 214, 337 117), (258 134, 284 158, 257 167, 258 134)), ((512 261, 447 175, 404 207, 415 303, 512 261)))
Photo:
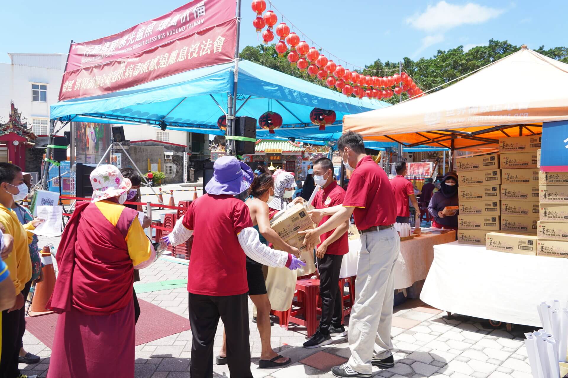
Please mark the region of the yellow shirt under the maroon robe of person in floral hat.
MULTIPOLYGON (((101 210, 101 213, 105 215, 105 218, 112 226, 116 226, 116 223, 118 223, 120 219, 120 214, 122 214, 122 210, 125 209, 124 205, 112 201, 98 201, 95 202, 95 205, 97 205, 98 209, 101 210)), ((124 240, 126 240, 128 246, 128 256, 130 256, 134 266, 150 258, 152 254, 152 244, 144 233, 144 229, 138 217, 133 220, 130 228, 128 228, 128 233, 124 240)))

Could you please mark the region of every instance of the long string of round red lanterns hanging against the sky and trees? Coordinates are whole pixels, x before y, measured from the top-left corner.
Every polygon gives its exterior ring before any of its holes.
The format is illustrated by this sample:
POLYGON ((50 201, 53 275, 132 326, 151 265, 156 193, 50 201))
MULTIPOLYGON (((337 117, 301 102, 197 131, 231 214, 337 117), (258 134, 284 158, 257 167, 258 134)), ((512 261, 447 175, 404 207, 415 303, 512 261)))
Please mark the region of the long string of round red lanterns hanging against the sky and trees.
MULTIPOLYGON (((278 22, 278 16, 272 10, 265 12, 265 0, 252 0, 251 6, 257 15, 256 19, 253 20, 256 31, 261 32, 265 26, 267 27, 262 32, 262 40, 268 45, 274 40, 272 29, 278 22), (263 12, 264 15, 262 15, 263 12)), ((402 94, 402 92, 406 92, 411 98, 421 97, 424 94, 406 72, 378 77, 350 71, 332 60, 328 60, 324 54, 321 54, 318 49, 310 46, 306 41, 300 41, 300 37, 295 32, 290 32, 290 27, 286 23, 279 23, 275 32, 280 39, 275 45, 279 57, 283 57, 288 46, 290 46, 290 52, 286 57, 292 67, 298 67, 300 71, 307 69, 308 75, 318 77, 330 89, 335 88, 345 96, 354 95, 360 99, 368 97, 369 99, 380 100, 389 99, 394 95, 402 94)))

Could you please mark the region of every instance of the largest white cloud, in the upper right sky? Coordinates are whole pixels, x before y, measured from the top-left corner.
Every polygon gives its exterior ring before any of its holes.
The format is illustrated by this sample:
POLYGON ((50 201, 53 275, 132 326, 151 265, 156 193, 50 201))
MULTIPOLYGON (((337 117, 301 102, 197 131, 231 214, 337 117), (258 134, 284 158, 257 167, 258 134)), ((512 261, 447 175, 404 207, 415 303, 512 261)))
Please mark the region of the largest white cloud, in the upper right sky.
POLYGON ((464 24, 481 24, 500 16, 504 11, 475 3, 453 5, 442 0, 435 6, 429 5, 422 14, 407 18, 406 23, 415 29, 432 33, 464 24))

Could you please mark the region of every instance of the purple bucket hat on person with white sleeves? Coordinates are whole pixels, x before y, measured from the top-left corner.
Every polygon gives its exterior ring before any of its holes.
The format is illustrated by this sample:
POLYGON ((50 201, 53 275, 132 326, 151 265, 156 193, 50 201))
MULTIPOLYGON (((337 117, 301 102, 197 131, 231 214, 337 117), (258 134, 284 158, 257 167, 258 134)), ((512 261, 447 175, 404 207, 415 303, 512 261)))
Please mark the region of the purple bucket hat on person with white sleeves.
POLYGON ((221 156, 213 165, 213 178, 205 185, 208 194, 241 194, 254 179, 252 169, 235 156, 221 156))

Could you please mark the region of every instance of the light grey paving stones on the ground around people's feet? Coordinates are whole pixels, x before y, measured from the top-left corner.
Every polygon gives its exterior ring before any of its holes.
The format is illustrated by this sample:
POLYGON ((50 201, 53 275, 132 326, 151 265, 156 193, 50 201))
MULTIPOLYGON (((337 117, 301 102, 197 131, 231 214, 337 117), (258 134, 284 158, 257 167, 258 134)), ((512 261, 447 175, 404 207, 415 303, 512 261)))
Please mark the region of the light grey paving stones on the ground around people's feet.
MULTIPOLYGON (((50 240, 51 241, 51 240, 50 240)), ((187 266, 159 260, 140 271, 141 282, 187 278, 187 266)), ((140 299, 187 316, 185 288, 146 292, 140 299)), ((250 318, 252 303, 249 301, 250 318)), ((348 322, 349 318, 346 318, 348 322)), ((445 312, 429 307, 420 300, 408 300, 395 308, 392 321, 395 366, 389 370, 373 368, 373 374, 385 378, 531 378, 523 333, 531 330, 516 326, 512 333, 491 328, 487 321, 470 317, 448 317, 445 312)), ((332 345, 320 349, 304 349, 306 329, 302 326, 290 330, 272 327, 272 346, 293 364, 285 368, 259 369, 261 343, 256 324, 250 322, 251 369, 254 378, 332 377, 331 367, 345 362, 349 356, 346 337, 334 338, 332 345)), ((223 328, 219 324, 215 337, 215 352, 222 343, 223 328)), ((27 351, 39 355, 40 363, 20 364, 27 375, 45 377, 51 350, 30 333, 24 335, 27 351)), ((189 377, 191 362, 191 330, 136 346, 136 378, 189 377)), ((227 377, 227 366, 214 365, 214 377, 227 377)))

